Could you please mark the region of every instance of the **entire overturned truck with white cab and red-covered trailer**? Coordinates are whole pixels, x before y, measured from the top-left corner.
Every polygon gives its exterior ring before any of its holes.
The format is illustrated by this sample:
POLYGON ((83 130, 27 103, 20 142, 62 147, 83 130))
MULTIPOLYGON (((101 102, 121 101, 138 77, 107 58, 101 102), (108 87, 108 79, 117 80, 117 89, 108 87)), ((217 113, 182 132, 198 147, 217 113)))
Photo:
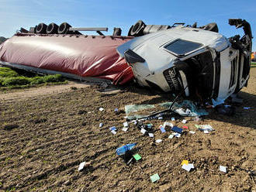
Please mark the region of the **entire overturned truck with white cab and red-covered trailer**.
POLYGON ((227 39, 218 33, 216 23, 162 26, 140 20, 130 27, 128 36, 121 36, 119 28, 105 36, 101 31, 107 28, 40 24, 29 31, 21 29, 3 43, 0 60, 6 66, 106 79, 113 84, 134 79, 161 91, 223 101, 247 86, 251 65, 250 24, 242 19, 230 19, 229 24, 243 27, 244 36, 227 39), (83 30, 95 30, 99 36, 82 35, 83 30))

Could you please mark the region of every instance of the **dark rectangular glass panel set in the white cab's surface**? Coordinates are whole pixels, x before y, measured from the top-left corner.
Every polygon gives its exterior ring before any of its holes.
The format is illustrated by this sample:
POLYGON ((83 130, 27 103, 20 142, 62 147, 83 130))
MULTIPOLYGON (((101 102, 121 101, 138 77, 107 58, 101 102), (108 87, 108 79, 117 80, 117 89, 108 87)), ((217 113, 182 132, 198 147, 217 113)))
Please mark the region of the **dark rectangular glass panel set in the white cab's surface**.
POLYGON ((164 46, 164 48, 166 50, 171 51, 172 53, 182 56, 186 53, 191 52, 192 50, 197 50, 201 46, 201 43, 195 43, 187 40, 178 39, 175 42, 170 43, 167 46, 164 46))

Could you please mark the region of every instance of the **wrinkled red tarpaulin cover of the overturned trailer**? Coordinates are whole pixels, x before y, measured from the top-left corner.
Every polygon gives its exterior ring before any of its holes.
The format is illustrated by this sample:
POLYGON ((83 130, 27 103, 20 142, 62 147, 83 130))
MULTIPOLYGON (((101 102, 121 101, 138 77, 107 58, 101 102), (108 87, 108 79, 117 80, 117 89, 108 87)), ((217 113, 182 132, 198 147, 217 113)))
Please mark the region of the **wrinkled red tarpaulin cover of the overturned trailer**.
POLYGON ((133 72, 116 47, 130 39, 17 33, 0 46, 0 60, 125 84, 133 72))

